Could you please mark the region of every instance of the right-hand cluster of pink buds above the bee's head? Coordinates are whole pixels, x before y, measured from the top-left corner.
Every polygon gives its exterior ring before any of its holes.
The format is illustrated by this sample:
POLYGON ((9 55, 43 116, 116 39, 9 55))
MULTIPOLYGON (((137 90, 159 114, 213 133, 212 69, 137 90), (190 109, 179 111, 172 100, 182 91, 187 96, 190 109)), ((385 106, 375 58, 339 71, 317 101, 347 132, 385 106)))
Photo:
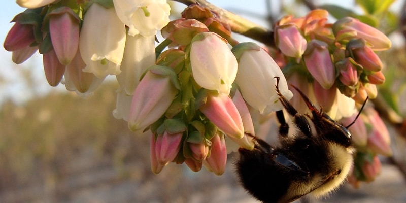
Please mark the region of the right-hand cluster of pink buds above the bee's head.
MULTIPOLYGON (((313 86, 305 93, 314 95, 332 118, 340 119, 351 116, 355 109, 351 108, 353 101, 347 101, 350 106, 345 109, 336 107, 338 100, 353 98, 362 104, 367 96, 377 96, 376 85, 385 77, 375 51, 389 49, 391 41, 358 19, 346 17, 331 24, 327 17, 326 10, 313 10, 300 18, 286 16, 275 26, 275 41, 279 55, 285 56, 283 71, 288 82, 313 86), (347 98, 339 98, 344 95, 347 98)), ((295 96, 292 103, 301 103, 299 98, 295 96)), ((306 110, 297 105, 301 107, 306 110)))

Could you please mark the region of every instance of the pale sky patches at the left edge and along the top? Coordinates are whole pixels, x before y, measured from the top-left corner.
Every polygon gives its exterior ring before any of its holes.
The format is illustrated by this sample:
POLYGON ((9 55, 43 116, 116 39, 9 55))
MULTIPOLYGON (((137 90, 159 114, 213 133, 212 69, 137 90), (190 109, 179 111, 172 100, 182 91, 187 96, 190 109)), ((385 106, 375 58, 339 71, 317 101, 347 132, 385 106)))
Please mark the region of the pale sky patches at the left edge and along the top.
MULTIPOLYGON (((239 13, 243 17, 258 24, 265 23, 264 20, 261 20, 267 12, 264 0, 249 1, 249 4, 247 4, 247 0, 234 0, 232 4, 230 4, 230 1, 220 0, 209 0, 209 2, 234 13, 239 13)), ((278 4, 280 1, 271 2, 278 4)), ((284 2, 285 4, 289 4, 289 2, 293 3, 294 1, 285 0, 284 2)), ((319 0, 315 2, 336 3, 337 1, 319 0)), ((353 2, 352 0, 341 0, 339 3, 347 8, 351 8, 353 2)), ((397 0, 397 2, 398 6, 394 5, 395 8, 399 8, 402 1, 397 0)), ((278 5, 274 6, 277 7, 278 5)), ((24 10, 25 9, 19 7, 15 1, 2 1, 2 7, 0 9, 0 39, 4 40, 8 31, 13 26, 14 23, 10 23, 13 17, 24 10)), ((180 10, 182 10, 182 8, 180 10)), ((11 58, 11 52, 6 51, 2 46, 0 48, 0 60, 2 62, 0 67, 0 105, 7 99, 21 104, 33 96, 45 95, 52 91, 66 91, 63 85, 59 85, 58 87, 48 85, 43 71, 42 55, 38 52, 23 64, 19 65, 14 64, 11 58), (26 80, 22 77, 22 74, 27 73, 30 74, 31 79, 29 84, 27 84, 26 80)))

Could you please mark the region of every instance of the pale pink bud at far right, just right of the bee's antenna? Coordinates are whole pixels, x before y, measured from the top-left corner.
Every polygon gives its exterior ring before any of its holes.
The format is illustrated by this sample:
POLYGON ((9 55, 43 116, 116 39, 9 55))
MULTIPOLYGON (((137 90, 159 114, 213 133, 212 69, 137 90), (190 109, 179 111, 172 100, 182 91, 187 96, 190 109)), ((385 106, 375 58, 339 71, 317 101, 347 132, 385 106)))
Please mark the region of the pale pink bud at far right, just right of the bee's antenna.
POLYGON ((374 109, 367 108, 364 112, 369 120, 368 124, 372 128, 368 134, 368 148, 378 154, 391 156, 389 131, 385 123, 374 109))

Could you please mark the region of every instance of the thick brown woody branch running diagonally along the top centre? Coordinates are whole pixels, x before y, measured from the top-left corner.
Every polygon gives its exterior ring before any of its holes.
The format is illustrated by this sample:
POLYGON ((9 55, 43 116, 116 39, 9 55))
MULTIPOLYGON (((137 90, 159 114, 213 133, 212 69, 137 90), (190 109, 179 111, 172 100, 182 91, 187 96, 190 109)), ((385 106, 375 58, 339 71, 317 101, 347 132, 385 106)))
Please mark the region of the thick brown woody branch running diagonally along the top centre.
POLYGON ((257 25, 241 16, 235 15, 225 9, 219 8, 206 0, 174 0, 185 5, 199 4, 206 6, 210 10, 219 14, 219 17, 224 22, 228 23, 231 30, 236 33, 240 33, 253 40, 264 43, 265 45, 275 47, 274 32, 266 29, 260 25, 257 25))

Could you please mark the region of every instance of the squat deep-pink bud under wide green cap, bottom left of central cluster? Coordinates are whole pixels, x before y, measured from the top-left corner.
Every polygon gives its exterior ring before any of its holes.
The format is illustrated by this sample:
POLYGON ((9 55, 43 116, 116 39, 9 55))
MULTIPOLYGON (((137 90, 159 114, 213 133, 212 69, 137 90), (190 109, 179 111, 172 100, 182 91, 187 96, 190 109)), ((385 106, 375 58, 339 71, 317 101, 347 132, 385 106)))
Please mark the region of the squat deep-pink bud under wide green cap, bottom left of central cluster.
POLYGON ((158 163, 166 165, 173 161, 181 148, 183 132, 170 134, 166 130, 156 138, 155 154, 158 163))

